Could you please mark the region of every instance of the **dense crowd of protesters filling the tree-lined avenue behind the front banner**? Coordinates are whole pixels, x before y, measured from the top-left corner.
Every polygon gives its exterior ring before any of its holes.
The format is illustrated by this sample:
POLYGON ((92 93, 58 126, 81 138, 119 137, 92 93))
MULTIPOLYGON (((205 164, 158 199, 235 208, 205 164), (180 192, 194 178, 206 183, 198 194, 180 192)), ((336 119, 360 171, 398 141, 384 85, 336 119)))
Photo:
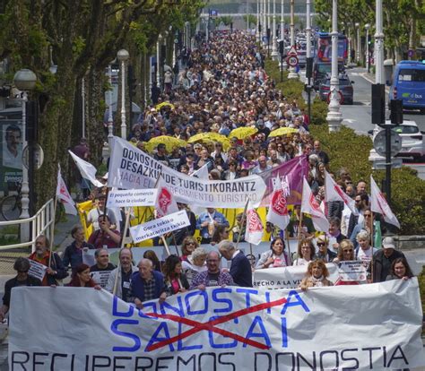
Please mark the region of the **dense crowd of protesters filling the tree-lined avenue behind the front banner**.
MULTIPOLYGON (((261 174, 277 167, 294 157, 308 158, 308 183, 317 201, 325 198, 325 169, 329 169, 329 157, 308 132, 309 117, 297 101, 285 98, 284 91, 276 89, 274 82, 265 72, 265 54, 256 44, 255 38, 241 31, 216 34, 208 43, 197 39, 197 48, 185 51, 185 60, 174 79, 168 75, 164 89, 156 103, 164 103, 160 109, 150 106, 132 127, 128 138, 137 148, 146 151, 146 142, 159 135, 168 135, 187 141, 200 133, 218 133, 228 136, 229 148, 223 142, 186 143, 183 148, 167 151, 159 144, 153 154, 155 160, 191 175, 204 165, 211 179, 229 180, 261 174), (174 83, 173 83, 174 82, 174 83), (255 129, 253 134, 243 138, 232 137, 230 132, 239 127, 255 129), (278 128, 296 129, 293 134, 273 136, 269 134, 278 128)), ((157 87, 158 88, 158 87, 157 87)), ((82 141, 76 148, 77 155, 87 160, 88 149, 82 141)), ((68 267, 72 270, 69 286, 108 289, 119 298, 142 308, 143 301, 166 300, 170 295, 187 289, 204 289, 208 286, 238 285, 252 287, 252 271, 291 264, 305 265, 306 279, 301 289, 315 286, 330 286, 325 263, 360 260, 369 265, 370 280, 405 279, 412 277, 412 271, 402 253, 395 250, 392 237, 384 238, 382 250, 374 246, 377 222, 369 209, 367 184, 362 179, 350 177, 342 168, 332 174, 343 192, 356 202, 359 215, 356 216, 343 203, 327 205, 330 229, 318 234, 311 219, 300 218, 299 205, 291 212, 287 229, 275 232, 273 225, 267 229, 271 234, 270 250, 252 262, 236 242, 244 240, 245 226, 242 214, 236 217, 236 225, 230 230, 229 220, 213 208, 197 216, 187 205, 191 227, 180 231, 178 244, 182 255, 169 255, 160 262, 152 250, 143 255, 135 264, 130 249, 120 250, 116 267, 109 263, 108 247, 120 246, 122 229, 119 218, 108 213, 105 197, 96 195, 95 207, 89 212, 88 223, 93 232, 86 242, 81 227, 72 230, 74 242, 65 250, 62 260, 56 254, 50 256, 48 239, 40 237, 36 253, 30 260, 48 266, 43 280, 28 275, 30 261, 20 259, 15 263, 17 276, 6 283, 3 317, 10 306, 10 292, 17 286, 57 285, 65 279, 68 267), (200 232, 200 242, 217 247, 207 252, 198 246, 195 230, 200 232), (233 241, 230 241, 230 231, 233 241), (300 237, 298 254, 291 256, 285 246, 284 237, 300 237), (96 249, 93 265, 82 262, 84 249, 96 249), (221 256, 230 263, 229 270, 222 270, 221 256), (372 260, 373 256, 373 260, 372 260), (373 269, 370 262, 373 262, 373 269), (254 266, 253 266, 254 265, 254 266), (373 277, 372 277, 373 275, 373 277)), ((83 183, 85 187, 85 183, 83 183)), ((86 188, 84 193, 86 192, 86 188)), ((377 246, 381 247, 381 246, 377 246)), ((351 282, 352 283, 352 282, 351 282)))

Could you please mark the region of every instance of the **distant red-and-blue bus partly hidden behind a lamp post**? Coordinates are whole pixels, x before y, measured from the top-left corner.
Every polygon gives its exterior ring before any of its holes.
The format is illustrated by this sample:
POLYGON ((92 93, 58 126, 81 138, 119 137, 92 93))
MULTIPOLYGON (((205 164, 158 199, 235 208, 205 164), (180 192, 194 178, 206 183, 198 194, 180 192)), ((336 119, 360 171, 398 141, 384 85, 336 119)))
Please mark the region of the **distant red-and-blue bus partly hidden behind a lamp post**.
MULTIPOLYGON (((338 34, 338 73, 343 73, 348 59, 348 39, 338 34)), ((332 72, 332 36, 317 32, 314 42, 313 85, 318 90, 320 82, 332 72)))

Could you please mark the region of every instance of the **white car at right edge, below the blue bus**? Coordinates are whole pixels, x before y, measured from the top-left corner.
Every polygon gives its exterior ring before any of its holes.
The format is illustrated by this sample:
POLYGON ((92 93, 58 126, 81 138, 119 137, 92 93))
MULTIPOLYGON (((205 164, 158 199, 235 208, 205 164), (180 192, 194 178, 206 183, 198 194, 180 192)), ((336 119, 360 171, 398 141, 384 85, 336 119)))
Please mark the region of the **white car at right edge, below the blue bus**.
MULTIPOLYGON (((386 124, 391 124, 391 121, 386 120, 386 124)), ((384 129, 380 128, 380 130, 384 129)), ((421 132, 414 121, 403 120, 403 124, 396 125, 393 130, 402 138, 402 150, 395 157, 412 160, 425 159, 425 132, 421 132)), ((368 133, 373 134, 373 130, 369 130, 368 133)))

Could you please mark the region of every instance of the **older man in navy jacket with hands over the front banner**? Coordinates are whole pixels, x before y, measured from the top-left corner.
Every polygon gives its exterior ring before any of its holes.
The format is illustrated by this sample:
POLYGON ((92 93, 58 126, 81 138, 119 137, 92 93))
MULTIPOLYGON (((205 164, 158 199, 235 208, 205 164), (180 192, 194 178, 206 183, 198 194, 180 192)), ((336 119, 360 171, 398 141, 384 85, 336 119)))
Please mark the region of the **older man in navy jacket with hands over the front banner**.
POLYGON ((167 293, 162 273, 153 271, 153 264, 149 259, 143 258, 137 266, 139 272, 132 275, 128 301, 139 309, 143 309, 143 301, 159 298, 163 302, 167 293))

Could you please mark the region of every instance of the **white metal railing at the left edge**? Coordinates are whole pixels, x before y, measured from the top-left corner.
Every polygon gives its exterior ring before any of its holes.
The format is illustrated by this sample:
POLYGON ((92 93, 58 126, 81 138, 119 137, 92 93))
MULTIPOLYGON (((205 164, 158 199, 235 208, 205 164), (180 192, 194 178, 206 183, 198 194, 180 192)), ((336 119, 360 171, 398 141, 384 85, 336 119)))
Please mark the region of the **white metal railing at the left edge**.
POLYGON ((30 240, 19 244, 0 246, 0 250, 17 249, 23 247, 31 247, 31 251, 35 250, 35 240, 40 235, 51 236, 52 229, 55 228, 55 202, 53 199, 48 200, 37 213, 28 219, 0 221, 0 229, 11 225, 30 226, 30 240))

